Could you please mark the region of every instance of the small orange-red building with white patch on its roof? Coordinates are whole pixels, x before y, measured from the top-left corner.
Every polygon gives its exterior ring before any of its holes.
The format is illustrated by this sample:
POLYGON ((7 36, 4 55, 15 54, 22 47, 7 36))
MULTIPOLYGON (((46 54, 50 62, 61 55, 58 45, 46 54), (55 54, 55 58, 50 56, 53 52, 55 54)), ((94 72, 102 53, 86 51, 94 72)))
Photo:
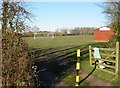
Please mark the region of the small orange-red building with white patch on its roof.
POLYGON ((113 35, 113 29, 109 27, 100 27, 94 30, 95 41, 109 41, 113 35))

